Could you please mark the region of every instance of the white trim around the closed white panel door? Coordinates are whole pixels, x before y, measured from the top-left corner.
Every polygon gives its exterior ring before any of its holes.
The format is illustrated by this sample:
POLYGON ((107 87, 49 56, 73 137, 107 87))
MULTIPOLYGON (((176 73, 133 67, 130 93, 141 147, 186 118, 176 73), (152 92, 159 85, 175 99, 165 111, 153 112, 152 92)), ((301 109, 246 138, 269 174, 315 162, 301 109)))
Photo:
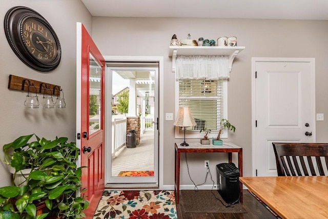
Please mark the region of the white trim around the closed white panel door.
MULTIPOLYGON (((311 87, 313 88, 311 96, 311 106, 314 107, 314 113, 312 114, 312 121, 316 122, 315 115, 315 58, 283 58, 283 57, 252 57, 252 176, 256 175, 256 131, 255 131, 255 120, 256 120, 256 89, 255 89, 255 70, 257 62, 302 62, 311 64, 311 87)), ((314 123, 315 124, 315 123, 314 123)), ((316 127, 313 128, 313 140, 315 142, 316 127)))

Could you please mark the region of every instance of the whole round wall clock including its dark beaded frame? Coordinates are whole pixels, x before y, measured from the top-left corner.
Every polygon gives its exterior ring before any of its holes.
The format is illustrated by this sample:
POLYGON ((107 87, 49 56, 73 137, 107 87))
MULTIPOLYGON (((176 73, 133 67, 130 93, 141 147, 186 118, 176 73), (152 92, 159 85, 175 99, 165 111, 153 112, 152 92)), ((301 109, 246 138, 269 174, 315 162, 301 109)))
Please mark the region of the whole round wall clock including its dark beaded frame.
POLYGON ((26 65, 42 72, 57 68, 59 39, 42 15, 27 7, 13 7, 6 13, 4 27, 11 49, 26 65))

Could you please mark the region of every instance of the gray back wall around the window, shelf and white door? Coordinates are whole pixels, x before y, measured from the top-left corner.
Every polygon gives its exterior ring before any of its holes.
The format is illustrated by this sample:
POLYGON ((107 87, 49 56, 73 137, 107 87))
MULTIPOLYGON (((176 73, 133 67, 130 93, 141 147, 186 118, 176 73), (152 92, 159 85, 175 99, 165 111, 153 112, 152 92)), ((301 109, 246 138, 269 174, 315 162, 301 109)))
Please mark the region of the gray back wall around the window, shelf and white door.
MULTIPOLYGON (((199 19, 199 18, 119 18, 93 17, 93 39, 103 55, 140 55, 164 57, 164 115, 175 112, 174 74, 169 44, 173 34, 178 38, 204 37, 217 39, 221 35, 237 36, 238 46, 245 46, 233 63, 228 83, 228 117, 236 126, 229 133, 231 141, 243 147, 244 175, 252 175, 251 130, 251 58, 252 57, 314 57, 316 59, 316 112, 328 113, 328 21, 282 21, 267 19, 199 19)), ((161 106, 163 107, 163 106, 161 106)), ((317 142, 327 142, 327 121, 316 124, 317 142)), ((173 121, 165 121, 161 130, 164 139, 164 185, 173 185, 174 143, 173 121)), ((190 139, 188 142, 198 142, 190 139)), ((234 156, 236 162, 236 156, 234 156)), ((181 185, 192 185, 182 155, 181 185)), ((210 160, 213 180, 216 182, 215 165, 226 162, 224 154, 188 154, 190 174, 196 184, 206 175, 204 160, 210 160)), ((211 181, 207 181, 211 185, 211 181)))

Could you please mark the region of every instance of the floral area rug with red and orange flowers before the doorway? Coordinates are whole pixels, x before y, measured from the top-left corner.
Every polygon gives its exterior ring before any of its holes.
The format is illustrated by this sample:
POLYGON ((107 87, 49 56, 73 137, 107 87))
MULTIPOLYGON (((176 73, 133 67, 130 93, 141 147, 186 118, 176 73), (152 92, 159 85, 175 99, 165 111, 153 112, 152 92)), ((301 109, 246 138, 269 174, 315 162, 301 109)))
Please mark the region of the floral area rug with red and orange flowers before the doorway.
POLYGON ((174 191, 105 190, 93 219, 176 218, 174 191))

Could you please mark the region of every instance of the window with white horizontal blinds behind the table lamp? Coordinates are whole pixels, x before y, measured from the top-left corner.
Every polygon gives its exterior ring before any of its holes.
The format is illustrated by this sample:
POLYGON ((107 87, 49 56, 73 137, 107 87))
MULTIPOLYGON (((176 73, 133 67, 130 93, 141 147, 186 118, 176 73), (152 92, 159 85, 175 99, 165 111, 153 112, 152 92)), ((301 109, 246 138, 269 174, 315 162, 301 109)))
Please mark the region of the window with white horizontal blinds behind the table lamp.
POLYGON ((179 106, 189 106, 196 126, 186 128, 186 132, 193 133, 201 129, 218 129, 223 118, 223 83, 202 79, 179 80, 179 106))

